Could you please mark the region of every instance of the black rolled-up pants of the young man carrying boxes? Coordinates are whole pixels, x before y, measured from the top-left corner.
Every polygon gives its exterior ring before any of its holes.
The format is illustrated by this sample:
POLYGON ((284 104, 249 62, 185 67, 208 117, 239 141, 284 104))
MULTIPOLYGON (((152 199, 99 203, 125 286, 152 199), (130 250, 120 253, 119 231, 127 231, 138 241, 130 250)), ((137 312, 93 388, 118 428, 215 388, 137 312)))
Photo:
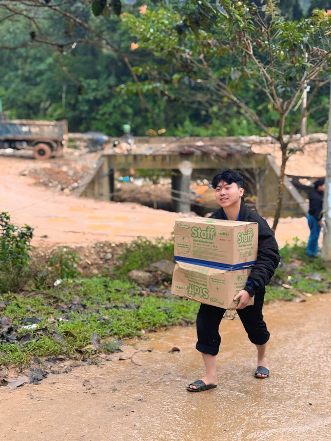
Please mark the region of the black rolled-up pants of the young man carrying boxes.
MULTIPOLYGON (((264 294, 255 297, 254 306, 238 309, 238 315, 244 325, 248 338, 255 345, 267 343, 270 334, 263 320, 264 294)), ((212 305, 201 304, 197 316, 198 342, 196 348, 205 354, 217 355, 220 349, 221 336, 219 326, 225 309, 212 305)))

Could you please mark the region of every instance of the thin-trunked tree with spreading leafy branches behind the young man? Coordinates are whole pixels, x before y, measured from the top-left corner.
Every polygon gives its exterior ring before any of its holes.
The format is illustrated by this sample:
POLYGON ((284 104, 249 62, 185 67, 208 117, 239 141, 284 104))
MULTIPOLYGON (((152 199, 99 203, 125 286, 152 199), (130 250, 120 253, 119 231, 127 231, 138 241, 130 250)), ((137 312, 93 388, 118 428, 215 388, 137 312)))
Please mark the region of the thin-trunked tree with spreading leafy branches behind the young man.
MULTIPOLYGON (((126 14, 123 22, 137 35, 137 47, 164 59, 169 75, 175 71, 171 92, 175 84, 177 88, 190 85, 190 96, 208 91, 216 106, 227 99, 279 143, 282 162, 272 226, 275 231, 286 162, 302 149, 302 145, 293 147, 291 143, 302 120, 319 108, 319 103, 314 105, 316 94, 330 82, 331 15, 317 11, 313 17, 291 22, 281 15, 278 2, 260 3, 257 7, 224 0, 219 6, 191 0, 181 8, 150 5, 141 9, 139 18, 126 14), (227 57, 227 67, 220 65, 222 57, 227 57), (274 113, 274 124, 268 121, 264 106, 247 102, 249 86, 264 96, 264 103, 274 113), (307 86, 307 103, 298 110, 307 86)), ((165 66, 163 77, 164 72, 165 66)), ((146 69, 142 73, 150 75, 146 69)), ((155 78, 150 81, 155 84, 155 78)), ((162 86, 166 93, 165 84, 162 86)))

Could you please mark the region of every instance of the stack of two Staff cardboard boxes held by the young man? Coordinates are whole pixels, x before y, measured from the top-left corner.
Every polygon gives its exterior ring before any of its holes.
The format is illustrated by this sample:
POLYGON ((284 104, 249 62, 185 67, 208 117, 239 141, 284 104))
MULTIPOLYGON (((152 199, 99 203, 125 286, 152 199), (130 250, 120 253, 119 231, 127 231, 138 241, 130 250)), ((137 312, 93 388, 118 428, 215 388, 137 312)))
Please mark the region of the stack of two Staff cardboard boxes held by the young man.
MULTIPOLYGON (((257 258, 258 224, 185 217, 174 227, 172 294, 225 309, 247 281, 257 258)), ((249 305, 254 304, 254 298, 249 305)))

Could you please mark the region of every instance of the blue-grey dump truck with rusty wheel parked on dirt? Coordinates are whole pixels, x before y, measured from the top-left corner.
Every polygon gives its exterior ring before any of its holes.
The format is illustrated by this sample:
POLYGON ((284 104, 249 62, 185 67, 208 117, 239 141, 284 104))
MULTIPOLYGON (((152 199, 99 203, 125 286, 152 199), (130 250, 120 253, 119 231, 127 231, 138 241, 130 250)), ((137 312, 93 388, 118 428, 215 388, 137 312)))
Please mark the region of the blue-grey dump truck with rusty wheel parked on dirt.
POLYGON ((63 153, 68 138, 67 121, 7 119, 0 113, 0 149, 32 150, 35 159, 63 153))

